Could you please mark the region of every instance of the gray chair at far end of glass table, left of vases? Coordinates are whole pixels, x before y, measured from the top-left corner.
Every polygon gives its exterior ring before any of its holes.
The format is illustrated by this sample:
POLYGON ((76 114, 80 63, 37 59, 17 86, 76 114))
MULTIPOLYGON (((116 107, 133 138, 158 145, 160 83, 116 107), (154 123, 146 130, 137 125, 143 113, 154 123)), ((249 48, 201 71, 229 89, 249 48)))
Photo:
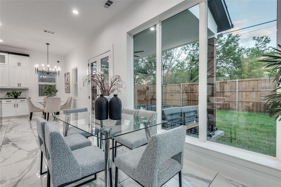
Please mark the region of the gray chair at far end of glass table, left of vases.
MULTIPOLYGON (((70 114, 70 113, 78 113, 78 112, 88 112, 88 108, 72 108, 72 109, 65 109, 62 111, 64 114, 70 114)), ((95 135, 98 135, 100 132, 100 129, 95 128, 94 129, 95 135)), ((82 136, 88 138, 90 136, 93 136, 87 132, 84 132, 76 127, 70 127, 66 123, 63 123, 63 136, 69 136, 73 134, 81 134, 82 136)), ((99 146, 99 139, 97 138, 97 146, 99 146)))

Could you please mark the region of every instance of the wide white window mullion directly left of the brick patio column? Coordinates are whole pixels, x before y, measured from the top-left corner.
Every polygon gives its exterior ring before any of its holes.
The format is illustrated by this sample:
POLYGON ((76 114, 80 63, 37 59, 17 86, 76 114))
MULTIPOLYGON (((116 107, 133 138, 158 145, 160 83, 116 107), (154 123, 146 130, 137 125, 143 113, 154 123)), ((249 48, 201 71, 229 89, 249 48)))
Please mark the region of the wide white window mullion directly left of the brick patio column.
POLYGON ((207 12, 208 2, 199 9, 199 141, 207 140, 207 12))

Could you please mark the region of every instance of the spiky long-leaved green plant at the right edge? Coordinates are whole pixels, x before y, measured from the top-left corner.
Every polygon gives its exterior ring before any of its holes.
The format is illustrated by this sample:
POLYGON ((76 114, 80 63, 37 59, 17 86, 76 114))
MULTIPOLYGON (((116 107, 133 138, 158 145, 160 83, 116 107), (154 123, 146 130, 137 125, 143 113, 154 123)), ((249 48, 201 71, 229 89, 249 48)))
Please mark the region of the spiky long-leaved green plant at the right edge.
MULTIPOLYGON (((278 44, 278 47, 281 49, 281 45, 278 44)), ((276 89, 272 90, 271 93, 266 97, 264 97, 264 100, 267 100, 268 106, 267 110, 269 111, 269 116, 270 117, 275 117, 275 120, 278 119, 278 117, 281 115, 281 93, 276 92, 278 89, 280 89, 280 83, 281 83, 281 50, 274 49, 276 52, 276 55, 263 55, 265 57, 268 57, 264 60, 259 60, 260 62, 266 62, 265 68, 273 67, 273 70, 271 74, 275 74, 275 79, 276 81, 276 89), (275 72, 274 72, 275 71, 275 72)), ((279 119, 281 121, 281 118, 279 119)))

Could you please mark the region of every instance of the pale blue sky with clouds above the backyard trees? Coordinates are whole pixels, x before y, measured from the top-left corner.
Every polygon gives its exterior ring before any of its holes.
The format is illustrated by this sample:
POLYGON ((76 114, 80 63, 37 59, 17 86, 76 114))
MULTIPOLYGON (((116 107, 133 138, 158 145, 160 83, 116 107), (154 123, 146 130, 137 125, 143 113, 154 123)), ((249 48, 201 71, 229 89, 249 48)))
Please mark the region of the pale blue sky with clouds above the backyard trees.
MULTIPOLYGON (((277 0, 225 0, 225 3, 234 25, 234 28, 228 31, 273 21, 277 18, 277 0)), ((240 46, 254 46, 253 36, 266 35, 271 39, 269 46, 276 47, 276 21, 233 32, 233 34, 236 33, 241 34, 240 46), (255 31, 258 29, 261 30, 255 31)))

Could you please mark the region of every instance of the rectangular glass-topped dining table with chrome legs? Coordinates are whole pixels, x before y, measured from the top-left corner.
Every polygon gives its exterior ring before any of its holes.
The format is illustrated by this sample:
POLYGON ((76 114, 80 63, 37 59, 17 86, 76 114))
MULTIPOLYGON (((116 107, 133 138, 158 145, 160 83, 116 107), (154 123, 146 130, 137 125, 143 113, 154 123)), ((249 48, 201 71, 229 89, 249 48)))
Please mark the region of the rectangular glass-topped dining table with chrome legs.
MULTIPOLYGON (((140 117, 122 113, 120 120, 97 120, 94 114, 89 112, 69 113, 53 115, 53 117, 65 123, 64 133, 67 134, 68 126, 76 127, 103 141, 105 159, 105 186, 109 186, 109 157, 110 140, 114 137, 128 134, 144 129, 147 140, 150 139, 149 128, 165 123, 164 120, 151 120, 151 118, 140 117), (96 132, 99 132, 98 134, 96 132)), ((113 146, 113 145, 112 145, 113 146)))

